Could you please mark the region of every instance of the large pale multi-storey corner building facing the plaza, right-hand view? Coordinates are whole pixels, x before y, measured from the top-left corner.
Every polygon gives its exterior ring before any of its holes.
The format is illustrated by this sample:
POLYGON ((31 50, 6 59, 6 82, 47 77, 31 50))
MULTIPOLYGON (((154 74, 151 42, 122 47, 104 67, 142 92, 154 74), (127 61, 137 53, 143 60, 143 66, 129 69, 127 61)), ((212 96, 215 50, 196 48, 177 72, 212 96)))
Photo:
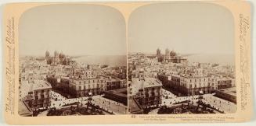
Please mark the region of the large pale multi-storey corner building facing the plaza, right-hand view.
POLYGON ((189 68, 180 75, 158 75, 164 88, 178 96, 193 96, 214 93, 217 88, 216 76, 204 73, 201 68, 189 68))

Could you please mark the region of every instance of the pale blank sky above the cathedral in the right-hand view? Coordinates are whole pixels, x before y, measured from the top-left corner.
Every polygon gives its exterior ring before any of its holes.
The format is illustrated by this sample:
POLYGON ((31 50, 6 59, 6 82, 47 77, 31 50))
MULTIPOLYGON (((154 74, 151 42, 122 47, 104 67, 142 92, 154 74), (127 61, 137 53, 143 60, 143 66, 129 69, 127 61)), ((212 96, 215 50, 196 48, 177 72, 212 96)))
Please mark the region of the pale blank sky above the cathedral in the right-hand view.
POLYGON ((234 54, 233 16, 219 5, 178 2, 144 5, 128 22, 128 52, 234 54))

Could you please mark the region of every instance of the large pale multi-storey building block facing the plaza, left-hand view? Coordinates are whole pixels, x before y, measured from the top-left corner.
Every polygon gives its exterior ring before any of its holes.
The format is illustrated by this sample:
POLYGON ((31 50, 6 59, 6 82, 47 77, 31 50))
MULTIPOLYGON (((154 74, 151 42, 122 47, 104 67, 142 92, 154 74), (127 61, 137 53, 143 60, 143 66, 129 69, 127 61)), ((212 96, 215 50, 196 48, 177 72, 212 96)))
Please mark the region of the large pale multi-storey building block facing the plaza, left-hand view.
POLYGON ((48 75, 52 89, 57 89, 73 97, 94 96, 107 90, 127 87, 126 79, 114 79, 107 75, 94 75, 89 69, 73 70, 69 77, 48 75))

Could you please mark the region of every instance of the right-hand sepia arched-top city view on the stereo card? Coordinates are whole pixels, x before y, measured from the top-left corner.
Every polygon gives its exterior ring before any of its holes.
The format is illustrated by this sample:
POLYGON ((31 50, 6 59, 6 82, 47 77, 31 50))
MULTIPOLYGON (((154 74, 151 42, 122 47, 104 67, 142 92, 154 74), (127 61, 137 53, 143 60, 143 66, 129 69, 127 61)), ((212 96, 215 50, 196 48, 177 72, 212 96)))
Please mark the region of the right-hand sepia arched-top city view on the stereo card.
POLYGON ((142 5, 128 20, 128 114, 233 114, 233 15, 220 5, 142 5))

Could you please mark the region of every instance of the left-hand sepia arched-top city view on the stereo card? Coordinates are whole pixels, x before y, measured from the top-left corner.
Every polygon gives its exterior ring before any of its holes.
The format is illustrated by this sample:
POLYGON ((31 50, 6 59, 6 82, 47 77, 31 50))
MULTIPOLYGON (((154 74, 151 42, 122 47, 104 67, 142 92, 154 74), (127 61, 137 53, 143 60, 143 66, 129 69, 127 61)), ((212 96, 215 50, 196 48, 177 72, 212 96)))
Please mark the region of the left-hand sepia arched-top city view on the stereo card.
POLYGON ((125 21, 105 5, 28 9, 19 23, 19 114, 128 113, 125 21))

